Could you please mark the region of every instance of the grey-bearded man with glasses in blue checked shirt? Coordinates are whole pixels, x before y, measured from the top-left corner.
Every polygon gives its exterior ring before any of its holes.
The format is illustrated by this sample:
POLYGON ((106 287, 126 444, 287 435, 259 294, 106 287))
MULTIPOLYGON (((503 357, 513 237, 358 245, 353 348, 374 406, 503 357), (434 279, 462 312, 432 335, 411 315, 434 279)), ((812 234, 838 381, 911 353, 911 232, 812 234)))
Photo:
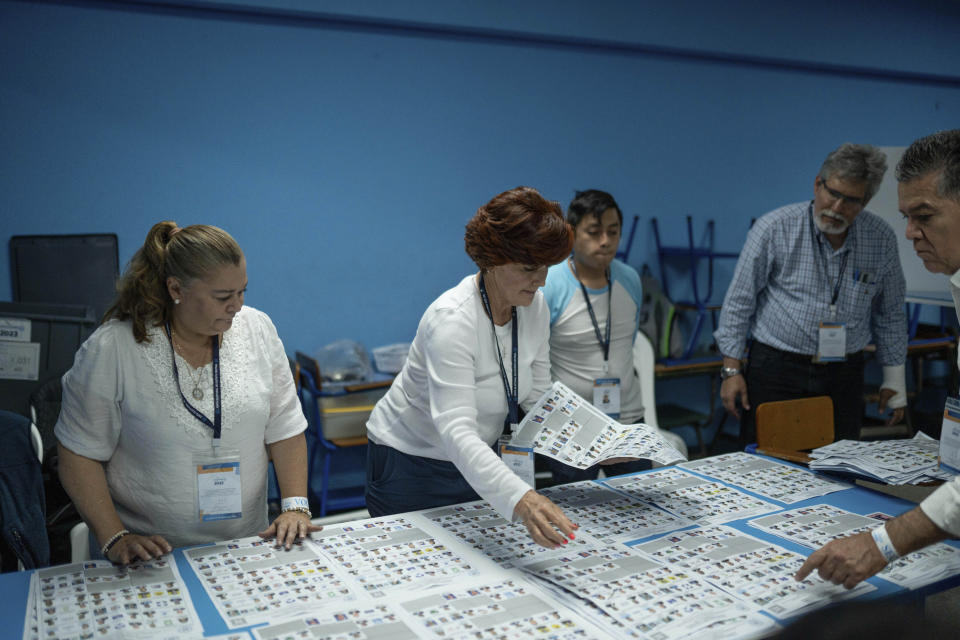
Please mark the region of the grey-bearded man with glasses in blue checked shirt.
POLYGON ((864 209, 886 169, 876 147, 843 144, 820 167, 813 200, 771 211, 747 234, 714 334, 720 396, 742 444, 756 441, 760 404, 820 395, 833 399, 836 439, 859 439, 871 342, 878 409, 892 409, 888 424, 902 420, 906 284, 893 229, 864 209))

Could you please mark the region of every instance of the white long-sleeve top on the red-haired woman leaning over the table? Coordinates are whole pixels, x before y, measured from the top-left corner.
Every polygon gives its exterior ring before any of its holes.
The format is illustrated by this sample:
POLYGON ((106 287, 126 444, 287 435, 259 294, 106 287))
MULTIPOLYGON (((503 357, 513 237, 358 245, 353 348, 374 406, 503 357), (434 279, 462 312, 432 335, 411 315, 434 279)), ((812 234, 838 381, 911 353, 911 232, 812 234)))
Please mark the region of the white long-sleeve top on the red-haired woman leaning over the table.
MULTIPOLYGON (((550 387, 550 312, 540 291, 530 306, 517 307, 517 322, 519 399, 529 407, 550 387)), ((496 335, 512 383, 511 323, 496 327, 496 335)), ((424 312, 407 362, 370 414, 367 434, 403 453, 452 462, 512 519, 530 487, 491 448, 507 416, 496 349, 476 275, 467 276, 424 312)))

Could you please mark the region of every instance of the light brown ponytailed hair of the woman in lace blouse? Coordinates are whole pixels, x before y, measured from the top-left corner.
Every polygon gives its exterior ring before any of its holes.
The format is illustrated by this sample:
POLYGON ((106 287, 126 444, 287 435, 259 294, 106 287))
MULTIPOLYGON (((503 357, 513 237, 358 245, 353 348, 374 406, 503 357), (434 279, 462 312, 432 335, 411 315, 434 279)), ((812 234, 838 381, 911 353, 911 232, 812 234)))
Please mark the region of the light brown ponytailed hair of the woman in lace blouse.
POLYGON ((171 220, 158 222, 120 276, 117 297, 103 314, 103 321, 131 319, 134 338, 144 342, 148 322, 159 326, 171 319, 173 301, 167 293, 167 278, 172 276, 189 286, 241 260, 240 246, 223 229, 204 224, 181 229, 171 220))

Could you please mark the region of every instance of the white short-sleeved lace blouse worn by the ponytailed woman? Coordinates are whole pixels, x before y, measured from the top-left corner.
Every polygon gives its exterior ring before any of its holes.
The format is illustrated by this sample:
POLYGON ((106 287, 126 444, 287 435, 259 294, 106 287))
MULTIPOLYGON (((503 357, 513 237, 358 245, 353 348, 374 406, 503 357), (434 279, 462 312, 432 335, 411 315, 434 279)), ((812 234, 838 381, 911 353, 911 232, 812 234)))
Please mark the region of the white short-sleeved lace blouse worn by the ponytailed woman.
MULTIPOLYGON (((266 445, 306 428, 277 330, 243 307, 220 348, 222 447, 240 452, 242 516, 201 522, 194 454, 209 453, 213 431, 184 407, 166 333, 150 327, 138 344, 129 321, 111 320, 77 352, 63 378, 55 433, 74 453, 104 463, 126 528, 160 534, 174 546, 254 535, 267 522, 266 445)), ((212 422, 212 366, 199 371, 204 397, 191 396, 198 372, 179 355, 184 395, 212 422), (192 379, 191 379, 192 378, 192 379)))

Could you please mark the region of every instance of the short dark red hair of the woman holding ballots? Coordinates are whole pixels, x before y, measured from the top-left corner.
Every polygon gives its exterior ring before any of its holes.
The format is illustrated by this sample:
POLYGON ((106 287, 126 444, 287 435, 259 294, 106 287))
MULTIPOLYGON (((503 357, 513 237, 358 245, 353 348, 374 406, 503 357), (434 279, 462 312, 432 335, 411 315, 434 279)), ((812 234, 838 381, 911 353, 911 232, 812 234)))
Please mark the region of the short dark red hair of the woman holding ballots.
POLYGON ((467 255, 483 270, 515 262, 552 265, 573 248, 563 210, 536 189, 517 187, 477 209, 463 237, 467 255))

